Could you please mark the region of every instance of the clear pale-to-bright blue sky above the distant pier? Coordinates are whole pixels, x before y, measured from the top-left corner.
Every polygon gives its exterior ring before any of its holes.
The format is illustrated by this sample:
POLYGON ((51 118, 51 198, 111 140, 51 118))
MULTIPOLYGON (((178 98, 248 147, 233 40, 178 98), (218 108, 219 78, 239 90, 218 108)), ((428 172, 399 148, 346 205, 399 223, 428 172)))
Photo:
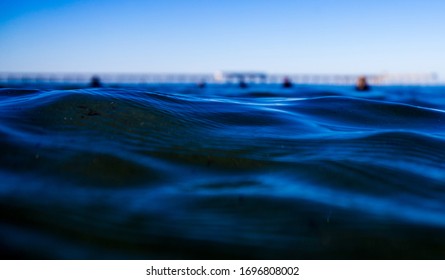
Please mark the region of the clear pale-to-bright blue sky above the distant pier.
POLYGON ((438 73, 443 0, 1 0, 0 71, 438 73))

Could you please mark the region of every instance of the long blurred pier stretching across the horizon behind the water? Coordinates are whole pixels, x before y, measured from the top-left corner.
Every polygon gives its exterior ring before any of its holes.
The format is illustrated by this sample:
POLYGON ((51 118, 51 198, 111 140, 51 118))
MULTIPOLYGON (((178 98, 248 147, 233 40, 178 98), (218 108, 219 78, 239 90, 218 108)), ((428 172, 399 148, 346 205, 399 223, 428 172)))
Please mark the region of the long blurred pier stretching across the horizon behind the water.
MULTIPOLYGON (((262 72, 217 72, 215 74, 184 73, 0 73, 0 86, 18 85, 89 85, 98 77, 104 86, 144 84, 282 84, 286 79, 294 85, 354 85, 363 75, 267 74, 262 72)), ((435 74, 369 74, 370 85, 435 85, 435 74)))

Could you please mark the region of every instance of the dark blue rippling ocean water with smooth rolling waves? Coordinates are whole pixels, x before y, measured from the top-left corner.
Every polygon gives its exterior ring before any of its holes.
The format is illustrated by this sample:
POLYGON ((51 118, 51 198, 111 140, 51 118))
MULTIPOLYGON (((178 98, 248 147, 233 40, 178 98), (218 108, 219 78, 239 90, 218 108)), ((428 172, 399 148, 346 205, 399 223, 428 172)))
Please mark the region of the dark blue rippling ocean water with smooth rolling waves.
POLYGON ((445 259, 445 87, 0 89, 4 259, 445 259))

